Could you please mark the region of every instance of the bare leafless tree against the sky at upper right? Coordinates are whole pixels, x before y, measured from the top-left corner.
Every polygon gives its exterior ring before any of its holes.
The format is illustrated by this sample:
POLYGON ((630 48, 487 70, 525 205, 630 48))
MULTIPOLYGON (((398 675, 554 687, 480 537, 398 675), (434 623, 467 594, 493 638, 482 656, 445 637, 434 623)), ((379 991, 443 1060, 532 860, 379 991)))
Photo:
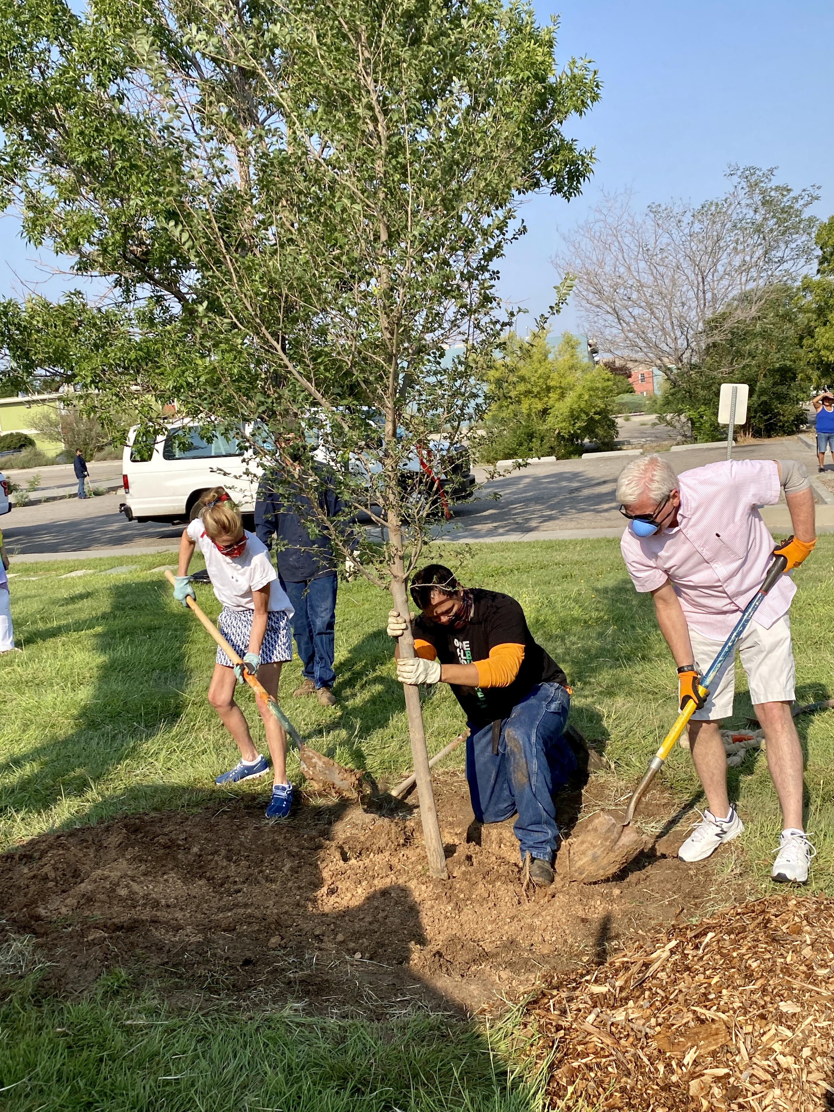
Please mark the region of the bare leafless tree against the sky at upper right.
POLYGON ((706 324, 727 334, 754 319, 775 285, 798 280, 814 257, 815 188, 774 183, 776 168, 731 166, 728 191, 693 206, 604 193, 554 259, 576 276, 574 297, 602 350, 647 359, 674 381, 701 363, 706 324))

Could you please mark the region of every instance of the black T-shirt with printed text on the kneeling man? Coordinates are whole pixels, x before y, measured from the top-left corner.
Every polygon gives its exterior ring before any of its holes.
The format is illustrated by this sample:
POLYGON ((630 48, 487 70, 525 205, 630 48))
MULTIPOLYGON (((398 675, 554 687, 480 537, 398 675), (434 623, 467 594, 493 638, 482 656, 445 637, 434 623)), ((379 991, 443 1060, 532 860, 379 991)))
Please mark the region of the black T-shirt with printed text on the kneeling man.
POLYGON ((533 639, 524 610, 515 598, 478 588, 470 594, 471 618, 461 629, 435 625, 420 614, 414 622, 414 636, 434 645, 440 664, 471 664, 486 661, 489 649, 497 645, 524 645, 522 666, 508 687, 450 685, 467 721, 481 729, 496 718, 508 718, 513 707, 536 684, 557 683, 565 686, 567 677, 533 639))

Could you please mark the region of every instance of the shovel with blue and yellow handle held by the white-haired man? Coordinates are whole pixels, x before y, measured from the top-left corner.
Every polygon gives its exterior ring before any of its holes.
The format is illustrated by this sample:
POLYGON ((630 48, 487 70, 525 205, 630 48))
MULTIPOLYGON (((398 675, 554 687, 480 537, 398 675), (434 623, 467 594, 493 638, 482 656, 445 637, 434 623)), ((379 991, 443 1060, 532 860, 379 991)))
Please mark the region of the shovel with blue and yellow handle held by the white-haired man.
MULTIPOLYGON (((715 679, 727 659, 735 652, 742 634, 747 628, 758 607, 765 600, 767 593, 787 567, 784 556, 775 556, 765 580, 756 594, 745 606, 735 628, 718 649, 718 655, 706 669, 704 678, 698 684, 698 693, 706 698, 715 679)), ((631 825, 637 804, 646 794, 646 790, 657 773, 663 768, 666 757, 672 752, 675 742, 683 734, 686 724, 697 707, 689 699, 678 714, 672 729, 648 763, 648 768, 636 791, 628 801, 625 817, 618 818, 610 811, 599 811, 590 818, 578 823, 572 836, 565 843, 572 881, 603 881, 624 868, 629 861, 646 847, 646 840, 631 825)))

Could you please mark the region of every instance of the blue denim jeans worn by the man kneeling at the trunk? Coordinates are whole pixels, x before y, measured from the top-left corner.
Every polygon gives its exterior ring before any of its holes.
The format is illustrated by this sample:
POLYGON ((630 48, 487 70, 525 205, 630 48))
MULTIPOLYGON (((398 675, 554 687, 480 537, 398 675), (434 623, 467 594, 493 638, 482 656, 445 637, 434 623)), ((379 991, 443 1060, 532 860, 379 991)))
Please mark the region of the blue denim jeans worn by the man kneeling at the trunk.
POLYGON ((470 727, 466 741, 466 778, 475 817, 500 823, 517 814, 513 831, 524 862, 527 853, 553 863, 559 832, 553 793, 576 770, 576 757, 563 737, 570 697, 560 684, 533 687, 502 722, 498 752, 493 727, 470 727))

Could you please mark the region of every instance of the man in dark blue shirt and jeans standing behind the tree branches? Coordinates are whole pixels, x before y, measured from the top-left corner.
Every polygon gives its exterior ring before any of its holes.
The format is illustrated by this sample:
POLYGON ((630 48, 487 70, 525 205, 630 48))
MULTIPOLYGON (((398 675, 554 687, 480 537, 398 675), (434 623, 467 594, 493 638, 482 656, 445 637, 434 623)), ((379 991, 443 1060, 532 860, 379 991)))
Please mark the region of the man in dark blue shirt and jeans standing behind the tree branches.
MULTIPOLYGON (((342 516, 341 500, 324 471, 317 502, 319 514, 328 518, 342 516)), ((327 536, 321 533, 310 536, 305 522, 314 520, 307 495, 292 490, 286 480, 277 484, 269 475, 261 478, 255 504, 255 532, 267 548, 271 548, 272 536, 277 537, 276 567, 296 612, 292 633, 304 682, 292 694, 299 698, 315 695, 322 706, 335 706, 336 557, 327 536)), ((350 538, 349 528, 341 528, 350 538)))

